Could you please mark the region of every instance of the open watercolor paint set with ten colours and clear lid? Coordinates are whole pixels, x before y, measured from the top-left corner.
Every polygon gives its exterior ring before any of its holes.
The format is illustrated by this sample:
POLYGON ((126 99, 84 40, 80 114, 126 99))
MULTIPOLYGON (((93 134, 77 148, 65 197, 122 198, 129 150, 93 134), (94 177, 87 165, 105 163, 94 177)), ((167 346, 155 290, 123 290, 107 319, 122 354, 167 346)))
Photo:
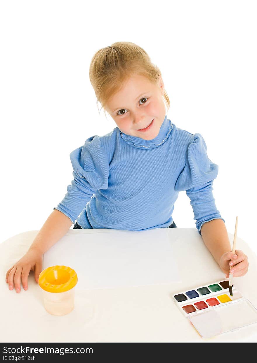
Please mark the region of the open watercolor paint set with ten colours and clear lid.
POLYGON ((211 338, 228 331, 257 323, 257 309, 232 285, 222 280, 193 287, 173 294, 181 313, 188 317, 202 338, 211 338))

